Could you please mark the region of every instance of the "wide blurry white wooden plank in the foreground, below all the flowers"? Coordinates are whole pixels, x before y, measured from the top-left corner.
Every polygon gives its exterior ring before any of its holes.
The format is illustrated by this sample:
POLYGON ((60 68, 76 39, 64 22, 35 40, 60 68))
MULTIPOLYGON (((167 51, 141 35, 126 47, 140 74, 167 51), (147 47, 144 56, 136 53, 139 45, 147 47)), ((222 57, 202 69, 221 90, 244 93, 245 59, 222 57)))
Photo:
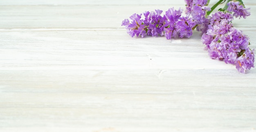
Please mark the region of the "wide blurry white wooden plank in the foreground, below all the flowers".
POLYGON ((146 132, 256 127, 255 72, 244 76, 231 70, 169 69, 159 78, 159 70, 74 67, 0 73, 4 76, 0 82, 3 130, 68 126, 89 132, 103 128, 146 132))

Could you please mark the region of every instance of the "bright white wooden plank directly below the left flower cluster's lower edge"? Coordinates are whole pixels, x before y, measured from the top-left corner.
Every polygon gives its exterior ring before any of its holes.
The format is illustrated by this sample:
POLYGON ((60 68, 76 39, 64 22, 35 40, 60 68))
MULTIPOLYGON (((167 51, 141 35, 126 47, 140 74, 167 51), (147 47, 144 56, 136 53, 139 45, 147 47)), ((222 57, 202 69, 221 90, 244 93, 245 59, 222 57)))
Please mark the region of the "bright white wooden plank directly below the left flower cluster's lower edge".
MULTIPOLYGON (((191 38, 174 40, 165 37, 131 38, 124 30, 1 31, 0 35, 1 65, 7 69, 13 65, 75 64, 126 68, 231 68, 236 71, 234 65, 209 59, 198 32, 194 32, 191 38)), ((252 36, 251 41, 255 39, 252 36)), ((255 47, 252 44, 251 48, 255 47)))

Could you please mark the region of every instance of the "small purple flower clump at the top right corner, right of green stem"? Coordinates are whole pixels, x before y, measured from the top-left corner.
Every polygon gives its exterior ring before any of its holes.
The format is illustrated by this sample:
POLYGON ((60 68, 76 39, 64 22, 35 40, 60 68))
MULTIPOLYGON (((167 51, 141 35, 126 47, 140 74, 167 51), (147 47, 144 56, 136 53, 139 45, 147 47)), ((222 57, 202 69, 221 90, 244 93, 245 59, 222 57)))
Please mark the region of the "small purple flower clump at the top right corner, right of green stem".
POLYGON ((240 3, 239 1, 230 1, 227 3, 227 11, 234 12, 233 16, 236 18, 239 17, 239 19, 243 16, 243 18, 246 18, 247 16, 250 16, 251 13, 248 11, 250 8, 245 9, 244 5, 240 3))

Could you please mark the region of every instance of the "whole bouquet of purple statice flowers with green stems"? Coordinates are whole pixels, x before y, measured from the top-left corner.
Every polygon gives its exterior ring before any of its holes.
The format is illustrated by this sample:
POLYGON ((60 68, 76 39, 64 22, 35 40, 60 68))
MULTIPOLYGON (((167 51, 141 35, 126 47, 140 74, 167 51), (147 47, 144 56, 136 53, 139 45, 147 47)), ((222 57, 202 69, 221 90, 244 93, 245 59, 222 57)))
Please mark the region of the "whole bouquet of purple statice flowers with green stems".
POLYGON ((226 0, 219 0, 209 8, 210 0, 185 0, 186 11, 168 9, 163 16, 162 10, 145 11, 133 14, 130 20, 125 19, 122 26, 131 36, 165 36, 171 38, 189 38, 193 30, 201 32, 201 40, 212 59, 223 60, 236 65, 238 72, 254 67, 254 49, 250 49, 249 37, 236 29, 231 23, 234 17, 239 19, 250 16, 242 0, 227 0, 225 7, 216 13, 211 12, 226 0), (210 15, 211 14, 211 15, 210 15))

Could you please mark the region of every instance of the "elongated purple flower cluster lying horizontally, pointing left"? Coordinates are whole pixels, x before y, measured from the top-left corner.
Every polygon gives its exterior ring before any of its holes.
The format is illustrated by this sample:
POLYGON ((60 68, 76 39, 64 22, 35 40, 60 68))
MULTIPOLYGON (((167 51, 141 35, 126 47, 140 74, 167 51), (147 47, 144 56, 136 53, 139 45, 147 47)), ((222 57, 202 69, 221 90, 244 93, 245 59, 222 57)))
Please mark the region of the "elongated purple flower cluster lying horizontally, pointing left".
POLYGON ((164 16, 161 16, 162 10, 145 11, 144 19, 141 19, 142 14, 133 14, 130 20, 125 19, 122 26, 126 26, 127 33, 131 36, 165 36, 171 38, 189 38, 192 36, 192 28, 195 26, 189 17, 181 16, 182 9, 168 9, 164 16))

